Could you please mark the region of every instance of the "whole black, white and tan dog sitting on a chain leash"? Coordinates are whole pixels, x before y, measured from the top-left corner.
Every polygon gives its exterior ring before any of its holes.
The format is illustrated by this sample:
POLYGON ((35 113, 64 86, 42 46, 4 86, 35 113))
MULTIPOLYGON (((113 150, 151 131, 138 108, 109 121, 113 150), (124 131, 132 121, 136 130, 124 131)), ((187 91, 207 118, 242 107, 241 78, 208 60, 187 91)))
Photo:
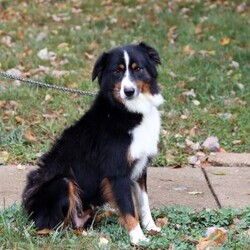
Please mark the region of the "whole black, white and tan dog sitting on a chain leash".
POLYGON ((160 132, 157 51, 140 43, 103 53, 92 80, 99 93, 90 109, 64 130, 27 178, 23 204, 39 229, 83 227, 96 206, 114 205, 134 244, 160 231, 151 216, 147 163, 160 132), (137 208, 137 209, 136 209, 137 208))

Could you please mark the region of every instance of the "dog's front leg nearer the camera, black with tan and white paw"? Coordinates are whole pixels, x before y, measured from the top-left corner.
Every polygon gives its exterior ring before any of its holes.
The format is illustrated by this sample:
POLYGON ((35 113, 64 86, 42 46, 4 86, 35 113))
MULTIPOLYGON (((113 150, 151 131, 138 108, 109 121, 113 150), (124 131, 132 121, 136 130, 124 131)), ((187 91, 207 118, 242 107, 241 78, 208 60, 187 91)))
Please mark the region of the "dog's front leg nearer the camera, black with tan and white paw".
POLYGON ((141 241, 149 240, 144 236, 135 215, 131 185, 129 177, 105 178, 102 182, 104 199, 118 208, 121 222, 129 233, 131 243, 138 245, 141 241))

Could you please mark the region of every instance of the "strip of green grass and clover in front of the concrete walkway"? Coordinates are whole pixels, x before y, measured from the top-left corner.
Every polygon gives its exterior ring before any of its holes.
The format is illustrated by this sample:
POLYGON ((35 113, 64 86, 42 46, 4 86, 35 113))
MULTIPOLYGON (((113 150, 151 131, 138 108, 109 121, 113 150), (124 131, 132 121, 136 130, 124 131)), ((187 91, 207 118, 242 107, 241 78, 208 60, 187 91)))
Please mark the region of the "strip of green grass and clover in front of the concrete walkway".
MULTIPOLYGON (((222 209, 194 212, 188 208, 169 207, 155 210, 155 219, 167 218, 168 224, 160 235, 148 236, 146 249, 196 249, 208 227, 228 230, 228 241, 219 249, 248 249, 250 244, 250 210, 222 209), (248 229, 248 232, 247 232, 248 229)), ((117 224, 117 216, 104 218, 88 229, 89 236, 77 235, 68 228, 51 235, 39 236, 34 225, 23 215, 19 206, 0 211, 0 249, 136 249, 129 243, 124 228, 117 224), (106 248, 98 247, 100 237, 106 237, 106 248)), ((143 248, 139 248, 143 249, 143 248)))

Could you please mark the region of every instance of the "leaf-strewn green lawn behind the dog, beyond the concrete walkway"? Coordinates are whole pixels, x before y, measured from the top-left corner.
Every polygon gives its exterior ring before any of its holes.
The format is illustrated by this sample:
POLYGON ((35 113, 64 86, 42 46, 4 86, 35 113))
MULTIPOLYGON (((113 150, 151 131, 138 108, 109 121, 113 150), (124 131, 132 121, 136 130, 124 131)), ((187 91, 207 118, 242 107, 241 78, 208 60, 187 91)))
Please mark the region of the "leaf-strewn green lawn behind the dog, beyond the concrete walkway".
MULTIPOLYGON (((37 0, 26 5, 2 0, 0 69, 16 68, 31 73, 31 78, 96 91, 97 84, 90 78, 98 55, 116 45, 145 41, 160 53, 159 82, 166 100, 162 106, 164 133, 154 164, 186 163, 187 137, 202 143, 214 135, 229 152, 250 152, 249 8, 237 12, 240 3, 176 1, 170 6, 166 1, 124 0, 110 4, 37 0), (45 37, 39 40, 41 32, 45 37), (6 37, 10 37, 10 43, 5 42, 6 37), (223 44, 222 39, 229 42, 223 44), (45 47, 55 52, 55 61, 39 59, 37 53, 45 47), (232 61, 239 67, 232 66, 232 61), (39 65, 68 74, 57 78, 50 72, 34 73, 39 65), (196 97, 183 97, 182 93, 190 89, 196 97), (192 99, 200 105, 195 106, 192 99), (182 119, 187 112, 187 119, 182 119), (223 119, 225 113, 230 115, 228 119, 223 119), (197 132, 190 136, 195 126, 197 132), (172 155, 170 161, 168 152, 172 155)), ((92 99, 17 86, 1 78, 0 101, 6 101, 0 109, 0 152, 9 153, 8 163, 34 164, 37 155, 84 113, 92 99), (47 94, 52 99, 46 102, 47 94), (10 105, 13 100, 17 105, 10 105), (21 121, 17 122, 16 117, 21 121), (27 139, 27 131, 37 138, 36 142, 27 139)))

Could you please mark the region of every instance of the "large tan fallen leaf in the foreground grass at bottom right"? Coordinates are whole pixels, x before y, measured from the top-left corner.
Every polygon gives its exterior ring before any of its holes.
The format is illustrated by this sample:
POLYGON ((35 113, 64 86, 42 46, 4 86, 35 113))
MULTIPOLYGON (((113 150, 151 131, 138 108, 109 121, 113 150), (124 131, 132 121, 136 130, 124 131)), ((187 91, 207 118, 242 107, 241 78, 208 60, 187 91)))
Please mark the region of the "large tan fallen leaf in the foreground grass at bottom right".
POLYGON ((197 250, 210 250, 224 244, 228 239, 228 231, 224 228, 211 227, 207 229, 207 237, 201 237, 199 244, 196 245, 197 250))

